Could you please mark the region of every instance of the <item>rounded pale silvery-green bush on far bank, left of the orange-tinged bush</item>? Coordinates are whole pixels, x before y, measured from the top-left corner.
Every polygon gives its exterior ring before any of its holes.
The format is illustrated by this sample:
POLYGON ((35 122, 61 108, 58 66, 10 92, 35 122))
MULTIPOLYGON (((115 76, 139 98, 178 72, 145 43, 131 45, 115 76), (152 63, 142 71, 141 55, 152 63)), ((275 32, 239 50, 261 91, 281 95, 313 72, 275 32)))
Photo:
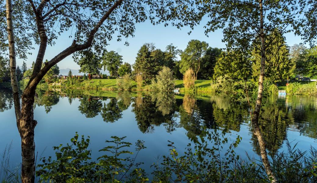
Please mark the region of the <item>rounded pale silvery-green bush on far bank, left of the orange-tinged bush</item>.
POLYGON ((160 92, 171 92, 174 89, 174 77, 170 68, 164 66, 159 75, 156 76, 156 82, 152 81, 155 88, 160 92))

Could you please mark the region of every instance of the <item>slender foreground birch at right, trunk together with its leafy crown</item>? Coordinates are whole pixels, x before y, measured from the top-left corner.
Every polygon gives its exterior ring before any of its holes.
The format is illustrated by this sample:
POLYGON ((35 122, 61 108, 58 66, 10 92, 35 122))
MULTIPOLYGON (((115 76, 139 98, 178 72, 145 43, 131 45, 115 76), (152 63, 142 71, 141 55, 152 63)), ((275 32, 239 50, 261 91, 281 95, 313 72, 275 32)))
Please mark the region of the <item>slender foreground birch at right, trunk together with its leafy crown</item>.
POLYGON ((261 67, 259 68, 258 95, 252 112, 252 126, 262 147, 263 164, 272 182, 277 180, 270 168, 265 142, 258 124, 265 77, 266 49, 270 47, 270 42, 272 42, 268 35, 275 30, 281 35, 291 31, 298 34, 302 25, 300 14, 304 10, 303 2, 305 1, 184 0, 180 2, 169 0, 166 4, 172 3, 174 8, 167 8, 162 14, 162 17, 172 20, 172 25, 178 28, 187 25, 193 29, 204 17, 204 20, 207 19, 204 26, 205 34, 208 35, 210 32, 222 29, 223 42, 226 42, 228 49, 238 48, 248 51, 255 47, 253 42, 258 42, 258 48, 261 52, 261 67), (179 17, 181 17, 181 21, 178 21, 179 17))

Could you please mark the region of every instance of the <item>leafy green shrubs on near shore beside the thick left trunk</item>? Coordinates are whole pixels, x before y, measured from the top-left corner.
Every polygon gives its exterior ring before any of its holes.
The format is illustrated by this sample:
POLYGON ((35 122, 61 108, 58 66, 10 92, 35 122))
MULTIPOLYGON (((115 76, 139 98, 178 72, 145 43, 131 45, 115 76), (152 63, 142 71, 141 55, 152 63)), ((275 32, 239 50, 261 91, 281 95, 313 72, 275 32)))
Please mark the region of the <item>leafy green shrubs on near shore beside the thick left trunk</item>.
POLYGON ((76 133, 70 144, 53 147, 55 158, 41 158, 36 175, 39 182, 147 182, 145 171, 138 168, 135 158, 140 150, 146 148, 143 141, 135 143, 135 157, 127 157, 133 152, 126 150, 132 143, 124 142, 125 137, 112 136, 106 141, 110 146, 100 149, 105 152, 98 162, 91 161, 91 150, 88 150, 89 136, 79 137, 76 133), (107 152, 116 152, 108 155, 107 152))

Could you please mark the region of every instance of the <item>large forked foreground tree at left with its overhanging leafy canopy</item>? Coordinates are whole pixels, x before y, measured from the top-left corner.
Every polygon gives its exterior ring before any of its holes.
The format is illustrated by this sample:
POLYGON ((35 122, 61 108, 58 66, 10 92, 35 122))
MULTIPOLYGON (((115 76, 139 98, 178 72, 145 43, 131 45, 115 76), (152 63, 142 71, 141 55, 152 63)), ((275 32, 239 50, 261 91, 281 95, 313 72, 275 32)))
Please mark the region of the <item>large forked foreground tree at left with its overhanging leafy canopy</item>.
MULTIPOLYGON (((7 28, 8 36, 0 33, 1 50, 9 47, 11 85, 15 103, 16 124, 21 136, 22 182, 35 180, 35 142, 33 104, 35 89, 44 75, 55 64, 73 55, 78 61, 85 53, 104 50, 107 42, 133 36, 135 23, 150 19, 154 23, 160 12, 160 1, 154 0, 6 0, 1 12, 0 26, 7 28), (6 25, 7 23, 7 25, 6 25), (61 34, 68 33, 69 44, 42 67, 47 46, 52 46, 61 34), (8 39, 5 39, 8 37, 8 39), (37 46, 35 46, 37 45, 37 46), (36 47, 37 56, 30 80, 20 95, 17 88, 16 56, 26 58, 29 49, 36 47)), ((4 2, 3 2, 4 3, 4 2)), ((165 8, 165 5, 164 5, 165 8)), ((159 20, 161 21, 161 20, 159 20)), ((63 40, 67 45, 67 40, 63 40)), ((128 44, 126 42, 126 44, 128 44)))

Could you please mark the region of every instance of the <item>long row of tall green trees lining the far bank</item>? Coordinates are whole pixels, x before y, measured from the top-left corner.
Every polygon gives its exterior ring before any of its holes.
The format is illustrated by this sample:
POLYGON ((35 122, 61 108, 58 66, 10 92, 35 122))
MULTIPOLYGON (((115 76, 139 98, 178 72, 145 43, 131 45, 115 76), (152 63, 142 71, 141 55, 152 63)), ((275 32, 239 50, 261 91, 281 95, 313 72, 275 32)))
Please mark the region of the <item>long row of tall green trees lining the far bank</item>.
MULTIPOLYGON (((271 33, 267 42, 271 44, 266 50, 265 80, 267 82, 277 83, 294 79, 296 75, 307 77, 317 75, 316 47, 308 49, 299 44, 289 47, 285 37, 277 32, 271 33)), ((261 62, 261 51, 256 45, 258 43, 254 42, 252 50, 219 49, 209 47, 204 41, 190 40, 184 50, 170 44, 163 51, 157 49, 153 43, 145 43, 139 49, 132 65, 127 62, 123 64, 122 56, 114 51, 105 51, 99 62, 92 62, 91 59, 95 59, 96 56, 88 54, 89 57, 83 57, 79 64, 81 72, 86 73, 98 73, 103 67, 111 76, 131 74, 135 78, 137 75, 142 75, 146 84, 150 84, 152 79, 155 79, 163 66, 171 69, 175 79, 183 79, 185 72, 191 69, 195 80, 217 81, 219 77, 226 77, 234 81, 256 82, 260 75, 261 62), (91 63, 96 65, 92 66, 91 63)))

